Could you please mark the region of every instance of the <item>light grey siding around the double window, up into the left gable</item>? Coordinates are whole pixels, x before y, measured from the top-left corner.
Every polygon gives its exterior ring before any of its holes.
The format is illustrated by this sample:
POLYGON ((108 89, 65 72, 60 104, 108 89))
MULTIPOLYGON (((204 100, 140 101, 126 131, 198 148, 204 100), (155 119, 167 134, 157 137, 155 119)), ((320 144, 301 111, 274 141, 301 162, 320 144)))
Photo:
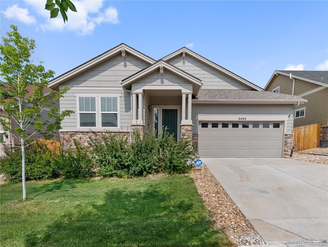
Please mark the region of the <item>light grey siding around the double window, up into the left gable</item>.
POLYGON ((123 59, 121 55, 117 55, 87 72, 76 76, 74 79, 61 84, 59 90, 63 89, 64 86, 68 86, 70 89, 65 94, 65 98, 60 99, 60 110, 74 111, 74 114, 65 118, 61 123, 62 129, 64 131, 78 129, 76 95, 91 97, 95 94, 104 96, 118 94, 120 95, 120 129, 130 131, 131 96, 129 92, 124 91, 119 81, 146 68, 148 65, 131 54, 128 54, 126 59, 123 59))

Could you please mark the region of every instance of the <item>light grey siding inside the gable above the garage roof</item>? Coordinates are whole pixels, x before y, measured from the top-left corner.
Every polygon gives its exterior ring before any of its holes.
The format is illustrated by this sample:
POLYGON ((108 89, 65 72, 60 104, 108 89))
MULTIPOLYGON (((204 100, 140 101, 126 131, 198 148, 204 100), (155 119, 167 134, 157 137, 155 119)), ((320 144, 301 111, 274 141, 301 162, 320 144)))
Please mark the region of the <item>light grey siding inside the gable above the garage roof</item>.
POLYGON ((211 66, 204 64, 187 54, 185 59, 182 59, 181 56, 177 56, 170 59, 168 62, 202 80, 204 82, 201 87, 202 89, 250 89, 246 85, 224 75, 211 66))

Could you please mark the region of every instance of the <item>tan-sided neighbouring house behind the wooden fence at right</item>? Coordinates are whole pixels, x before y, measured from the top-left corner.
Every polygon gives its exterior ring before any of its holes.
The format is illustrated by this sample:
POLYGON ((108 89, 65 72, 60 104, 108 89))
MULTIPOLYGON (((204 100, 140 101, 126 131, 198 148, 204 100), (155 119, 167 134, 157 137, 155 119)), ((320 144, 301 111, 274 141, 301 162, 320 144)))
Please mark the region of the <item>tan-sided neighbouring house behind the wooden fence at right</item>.
POLYGON ((321 144, 328 146, 328 71, 276 70, 264 88, 308 100, 294 111, 294 127, 321 123, 321 144))

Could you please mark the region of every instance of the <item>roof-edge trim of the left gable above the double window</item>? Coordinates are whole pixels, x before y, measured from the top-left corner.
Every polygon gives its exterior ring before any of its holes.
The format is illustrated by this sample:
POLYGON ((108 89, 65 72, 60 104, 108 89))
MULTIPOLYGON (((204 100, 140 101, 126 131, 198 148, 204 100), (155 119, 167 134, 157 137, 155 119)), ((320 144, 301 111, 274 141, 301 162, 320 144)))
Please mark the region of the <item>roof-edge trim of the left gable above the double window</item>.
POLYGON ((134 55, 149 64, 156 62, 156 60, 127 46, 125 43, 121 43, 117 47, 114 47, 113 49, 111 49, 103 54, 100 54, 99 56, 97 56, 95 58, 92 58, 91 60, 77 66, 76 68, 64 73, 63 75, 60 75, 60 76, 52 79, 51 81, 49 81, 48 87, 58 90, 58 86, 60 84, 70 80, 71 78, 73 78, 87 70, 90 70, 91 68, 98 65, 99 63, 102 63, 105 60, 108 60, 109 58, 116 56, 118 54, 121 54, 122 57, 125 58, 125 57, 127 57, 127 53, 130 53, 131 55, 134 55))

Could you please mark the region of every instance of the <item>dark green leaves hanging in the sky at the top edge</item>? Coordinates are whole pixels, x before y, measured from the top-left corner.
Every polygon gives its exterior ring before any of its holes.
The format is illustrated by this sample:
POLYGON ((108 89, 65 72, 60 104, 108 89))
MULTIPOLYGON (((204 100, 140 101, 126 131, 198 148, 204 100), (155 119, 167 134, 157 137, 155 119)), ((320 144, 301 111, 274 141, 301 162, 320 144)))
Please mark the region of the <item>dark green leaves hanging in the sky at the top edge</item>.
POLYGON ((70 9, 73 12, 77 12, 74 4, 70 0, 47 0, 46 10, 50 11, 50 18, 56 18, 60 12, 63 17, 64 23, 68 21, 66 12, 70 9))

